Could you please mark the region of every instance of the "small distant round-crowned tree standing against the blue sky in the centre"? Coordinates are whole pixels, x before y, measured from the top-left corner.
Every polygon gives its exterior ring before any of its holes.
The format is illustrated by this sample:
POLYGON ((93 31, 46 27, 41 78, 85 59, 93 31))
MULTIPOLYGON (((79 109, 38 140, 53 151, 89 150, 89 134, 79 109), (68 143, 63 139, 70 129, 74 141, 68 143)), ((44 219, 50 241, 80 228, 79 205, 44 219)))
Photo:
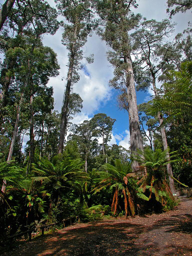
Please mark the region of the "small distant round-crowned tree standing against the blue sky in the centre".
POLYGON ((107 116, 103 113, 94 115, 90 121, 91 128, 94 130, 92 135, 96 137, 102 137, 103 155, 106 155, 106 144, 111 139, 112 127, 115 121, 115 119, 112 119, 110 116, 107 116))

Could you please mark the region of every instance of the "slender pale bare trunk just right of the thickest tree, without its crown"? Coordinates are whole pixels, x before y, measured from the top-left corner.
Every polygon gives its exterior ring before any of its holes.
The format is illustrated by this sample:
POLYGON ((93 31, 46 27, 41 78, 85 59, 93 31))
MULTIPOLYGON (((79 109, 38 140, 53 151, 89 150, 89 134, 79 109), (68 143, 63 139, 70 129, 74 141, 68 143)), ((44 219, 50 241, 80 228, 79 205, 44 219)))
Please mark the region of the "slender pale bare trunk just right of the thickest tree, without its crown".
MULTIPOLYGON (((151 74, 152 74, 152 78, 153 78, 153 89, 154 89, 154 93, 155 93, 155 97, 159 97, 157 88, 156 88, 156 78, 155 78, 155 74, 152 71, 152 69, 150 69, 151 74)), ((163 122, 163 118, 160 114, 160 112, 158 112, 158 120, 159 120, 159 124, 160 124, 160 130, 161 130, 161 136, 162 136, 162 142, 163 142, 163 149, 164 150, 168 150, 168 144, 167 144, 167 138, 166 138, 166 132, 165 132, 165 128, 162 125, 163 122)), ((170 156, 169 156, 169 152, 167 151, 166 154, 167 160, 170 160, 170 156)), ((172 167, 171 164, 167 164, 167 173, 169 176, 169 186, 170 186, 170 190, 172 192, 172 194, 176 194, 176 189, 175 189, 175 185, 174 185, 174 180, 172 178, 173 176, 173 172, 172 172, 172 167)))

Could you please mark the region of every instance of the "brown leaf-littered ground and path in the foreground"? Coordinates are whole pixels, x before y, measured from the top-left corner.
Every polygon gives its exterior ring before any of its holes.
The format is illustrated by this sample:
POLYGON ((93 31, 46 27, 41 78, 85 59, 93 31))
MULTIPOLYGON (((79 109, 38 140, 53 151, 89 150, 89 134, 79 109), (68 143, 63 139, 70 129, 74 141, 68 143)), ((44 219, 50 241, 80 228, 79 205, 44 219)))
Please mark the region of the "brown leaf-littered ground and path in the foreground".
POLYGON ((192 200, 170 212, 111 218, 68 226, 39 236, 3 256, 176 256, 192 255, 192 200))

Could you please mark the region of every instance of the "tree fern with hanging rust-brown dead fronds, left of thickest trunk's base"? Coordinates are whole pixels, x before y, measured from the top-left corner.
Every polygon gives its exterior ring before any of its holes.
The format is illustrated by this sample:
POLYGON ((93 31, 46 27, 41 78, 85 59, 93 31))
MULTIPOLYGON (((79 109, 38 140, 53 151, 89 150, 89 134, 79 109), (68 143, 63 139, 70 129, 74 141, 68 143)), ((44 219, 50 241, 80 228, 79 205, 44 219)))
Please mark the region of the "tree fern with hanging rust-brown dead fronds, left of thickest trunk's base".
POLYGON ((127 215, 134 216, 134 195, 136 194, 136 180, 128 176, 130 173, 131 165, 122 164, 119 159, 115 160, 115 166, 111 164, 104 164, 103 171, 98 172, 99 178, 95 180, 95 188, 92 190, 94 194, 100 192, 102 189, 109 187, 114 191, 112 200, 112 212, 115 215, 118 207, 118 198, 121 194, 124 198, 125 212, 127 215))

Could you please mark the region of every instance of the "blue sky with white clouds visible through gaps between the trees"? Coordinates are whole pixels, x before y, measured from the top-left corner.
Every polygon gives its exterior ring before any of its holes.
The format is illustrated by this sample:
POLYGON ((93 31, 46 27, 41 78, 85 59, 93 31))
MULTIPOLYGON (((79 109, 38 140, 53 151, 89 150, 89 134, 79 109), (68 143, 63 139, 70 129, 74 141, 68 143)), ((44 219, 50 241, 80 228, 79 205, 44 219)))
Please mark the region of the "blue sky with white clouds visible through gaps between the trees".
MULTIPOLYGON (((55 6, 53 0, 48 2, 55 6)), ((166 0, 138 0, 138 9, 136 12, 142 14, 148 20, 156 19, 161 21, 168 18, 166 14, 166 0)), ((179 13, 173 17, 173 22, 177 22, 175 35, 187 27, 188 21, 191 20, 191 11, 185 14, 179 13)), ((62 106, 62 99, 65 90, 66 82, 61 80, 66 77, 68 67, 67 50, 61 44, 62 28, 54 36, 44 36, 44 44, 50 46, 58 54, 58 62, 61 66, 60 75, 56 78, 50 78, 49 85, 54 88, 55 109, 60 112, 62 106)), ((107 61, 106 52, 109 50, 105 42, 93 34, 88 38, 86 46, 84 46, 84 56, 94 54, 94 63, 87 64, 80 70, 80 81, 74 85, 74 92, 79 93, 83 102, 82 112, 73 120, 78 124, 84 120, 90 119, 97 113, 105 113, 111 118, 115 118, 112 141, 110 144, 117 143, 129 148, 129 125, 128 113, 119 110, 116 102, 118 92, 108 86, 108 80, 113 76, 113 68, 107 61)), ((148 93, 136 92, 138 104, 145 102, 146 97, 150 96, 148 93)))

